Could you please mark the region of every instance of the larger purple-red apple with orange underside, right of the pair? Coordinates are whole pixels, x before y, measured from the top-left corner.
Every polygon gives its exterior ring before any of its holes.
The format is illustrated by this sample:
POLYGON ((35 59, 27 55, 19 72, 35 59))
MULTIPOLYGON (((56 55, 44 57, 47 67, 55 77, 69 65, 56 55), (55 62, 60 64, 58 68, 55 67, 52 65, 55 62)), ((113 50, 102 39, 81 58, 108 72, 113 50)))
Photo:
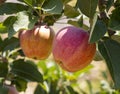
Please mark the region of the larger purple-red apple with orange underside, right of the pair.
POLYGON ((95 43, 90 44, 89 33, 73 26, 67 26, 57 32, 53 41, 53 57, 66 71, 76 72, 91 63, 95 52, 95 43))

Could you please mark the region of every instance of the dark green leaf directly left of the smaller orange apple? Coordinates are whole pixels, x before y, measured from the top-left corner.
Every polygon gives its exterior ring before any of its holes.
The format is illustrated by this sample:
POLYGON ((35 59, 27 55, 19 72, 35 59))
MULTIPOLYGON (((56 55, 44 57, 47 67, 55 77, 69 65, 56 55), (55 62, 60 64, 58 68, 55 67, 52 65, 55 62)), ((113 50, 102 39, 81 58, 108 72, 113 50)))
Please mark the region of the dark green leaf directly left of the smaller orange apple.
POLYGON ((14 50, 15 48, 19 47, 19 40, 18 38, 12 37, 12 38, 6 38, 2 43, 2 51, 7 50, 14 50))

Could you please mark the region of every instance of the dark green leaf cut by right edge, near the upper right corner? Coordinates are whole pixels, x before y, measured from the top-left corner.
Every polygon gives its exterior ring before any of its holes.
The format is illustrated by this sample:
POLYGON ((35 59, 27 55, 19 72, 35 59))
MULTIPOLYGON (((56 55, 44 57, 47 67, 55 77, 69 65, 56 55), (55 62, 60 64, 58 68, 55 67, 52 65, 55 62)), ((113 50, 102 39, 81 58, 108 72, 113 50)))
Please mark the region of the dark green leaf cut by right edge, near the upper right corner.
POLYGON ((112 30, 120 30, 120 7, 116 8, 111 16, 110 16, 110 20, 109 20, 109 28, 112 30))

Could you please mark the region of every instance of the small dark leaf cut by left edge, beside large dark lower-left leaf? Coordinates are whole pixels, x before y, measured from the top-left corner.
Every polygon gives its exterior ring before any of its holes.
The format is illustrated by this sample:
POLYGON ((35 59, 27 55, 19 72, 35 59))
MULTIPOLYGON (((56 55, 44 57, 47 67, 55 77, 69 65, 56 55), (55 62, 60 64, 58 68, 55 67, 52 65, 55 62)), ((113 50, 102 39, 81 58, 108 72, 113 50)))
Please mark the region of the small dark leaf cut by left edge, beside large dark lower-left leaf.
POLYGON ((6 62, 0 62, 0 77, 6 77, 8 73, 8 64, 6 62))

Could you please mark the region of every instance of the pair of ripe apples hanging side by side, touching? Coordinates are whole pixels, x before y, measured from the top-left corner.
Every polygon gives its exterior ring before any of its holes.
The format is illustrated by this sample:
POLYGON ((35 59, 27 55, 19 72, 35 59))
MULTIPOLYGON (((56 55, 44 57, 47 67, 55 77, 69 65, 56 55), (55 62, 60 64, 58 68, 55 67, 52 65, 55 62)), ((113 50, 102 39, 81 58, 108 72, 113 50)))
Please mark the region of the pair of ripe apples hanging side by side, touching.
POLYGON ((52 52, 56 63, 69 72, 86 67, 96 52, 95 43, 89 43, 89 33, 74 26, 65 27, 56 35, 49 26, 35 26, 21 30, 19 39, 25 56, 46 59, 52 52))

